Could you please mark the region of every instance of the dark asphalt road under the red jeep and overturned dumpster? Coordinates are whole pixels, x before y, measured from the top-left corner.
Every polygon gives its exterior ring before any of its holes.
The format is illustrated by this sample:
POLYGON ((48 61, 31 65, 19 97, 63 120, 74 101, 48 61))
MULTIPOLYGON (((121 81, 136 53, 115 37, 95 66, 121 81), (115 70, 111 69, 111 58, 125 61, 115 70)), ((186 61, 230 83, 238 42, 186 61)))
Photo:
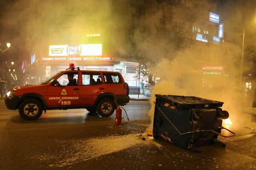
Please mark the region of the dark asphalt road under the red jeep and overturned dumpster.
POLYGON ((124 108, 130 122, 123 111, 122 125, 115 125, 115 114, 100 117, 85 109, 47 111, 26 121, 0 99, 0 170, 256 169, 254 110, 244 109, 239 116, 245 119, 228 127, 236 136, 218 137, 226 147, 208 145, 198 153, 145 133, 151 122, 148 101, 124 108))

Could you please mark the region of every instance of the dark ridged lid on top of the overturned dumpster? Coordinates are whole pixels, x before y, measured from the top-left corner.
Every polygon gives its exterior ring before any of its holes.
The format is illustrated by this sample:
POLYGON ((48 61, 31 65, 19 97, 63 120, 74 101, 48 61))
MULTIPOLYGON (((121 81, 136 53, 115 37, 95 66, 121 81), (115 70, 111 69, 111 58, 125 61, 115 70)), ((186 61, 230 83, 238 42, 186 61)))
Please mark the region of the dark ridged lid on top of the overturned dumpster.
POLYGON ((203 99, 195 96, 176 96, 161 94, 155 94, 155 96, 178 108, 218 108, 224 104, 224 102, 203 99))

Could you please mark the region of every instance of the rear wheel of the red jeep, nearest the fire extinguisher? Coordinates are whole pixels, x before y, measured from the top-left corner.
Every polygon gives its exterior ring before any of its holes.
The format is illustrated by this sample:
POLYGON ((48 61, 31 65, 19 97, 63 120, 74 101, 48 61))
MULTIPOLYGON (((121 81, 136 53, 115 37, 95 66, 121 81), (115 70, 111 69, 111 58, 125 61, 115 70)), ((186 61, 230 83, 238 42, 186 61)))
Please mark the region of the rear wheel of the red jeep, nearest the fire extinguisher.
POLYGON ((97 113, 102 117, 111 116, 115 111, 115 104, 111 99, 102 99, 97 105, 97 113))

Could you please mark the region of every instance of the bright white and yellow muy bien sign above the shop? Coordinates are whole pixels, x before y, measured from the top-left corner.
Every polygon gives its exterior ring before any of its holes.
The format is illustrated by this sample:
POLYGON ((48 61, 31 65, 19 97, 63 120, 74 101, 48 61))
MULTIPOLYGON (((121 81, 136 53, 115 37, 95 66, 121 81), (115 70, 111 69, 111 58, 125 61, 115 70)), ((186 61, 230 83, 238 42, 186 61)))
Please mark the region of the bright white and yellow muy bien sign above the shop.
POLYGON ((102 44, 49 45, 49 56, 101 56, 102 44))

